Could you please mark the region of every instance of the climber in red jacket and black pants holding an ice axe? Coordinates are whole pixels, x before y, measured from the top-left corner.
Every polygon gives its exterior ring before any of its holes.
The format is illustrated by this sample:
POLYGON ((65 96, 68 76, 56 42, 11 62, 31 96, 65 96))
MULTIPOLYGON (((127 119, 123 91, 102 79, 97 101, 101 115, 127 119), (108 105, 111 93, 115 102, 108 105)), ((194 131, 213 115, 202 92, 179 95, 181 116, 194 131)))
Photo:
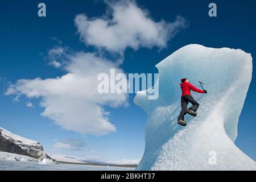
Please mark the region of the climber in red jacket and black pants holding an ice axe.
POLYGON ((180 111, 180 115, 177 119, 177 122, 179 125, 186 126, 187 123, 184 121, 184 115, 188 113, 188 114, 192 115, 193 117, 195 117, 196 110, 199 107, 199 103, 191 96, 190 90, 193 90, 198 93, 207 93, 207 90, 197 89, 195 86, 193 86, 189 82, 188 78, 181 79, 180 88, 182 91, 181 111, 180 111), (190 102, 192 104, 192 106, 189 107, 189 109, 188 109, 188 102, 190 102))

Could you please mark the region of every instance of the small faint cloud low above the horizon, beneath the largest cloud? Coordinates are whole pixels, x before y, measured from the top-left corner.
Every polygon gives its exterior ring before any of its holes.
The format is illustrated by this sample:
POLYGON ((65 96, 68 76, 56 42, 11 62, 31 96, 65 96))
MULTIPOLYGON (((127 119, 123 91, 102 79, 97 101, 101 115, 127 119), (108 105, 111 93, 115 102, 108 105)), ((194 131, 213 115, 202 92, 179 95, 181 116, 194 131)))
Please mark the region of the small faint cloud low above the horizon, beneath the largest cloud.
POLYGON ((85 146, 86 144, 82 139, 66 138, 61 140, 58 139, 57 142, 53 145, 53 148, 83 151, 85 146))

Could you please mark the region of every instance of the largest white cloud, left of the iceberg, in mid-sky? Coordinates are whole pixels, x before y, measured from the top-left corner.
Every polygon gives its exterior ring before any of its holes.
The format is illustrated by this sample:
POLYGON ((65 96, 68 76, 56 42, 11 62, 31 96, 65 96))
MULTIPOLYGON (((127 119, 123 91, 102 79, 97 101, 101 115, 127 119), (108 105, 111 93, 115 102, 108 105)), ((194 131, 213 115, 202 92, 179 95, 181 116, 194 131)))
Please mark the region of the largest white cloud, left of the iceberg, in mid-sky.
MULTIPOLYGON (((104 135, 115 131, 104 106, 127 105, 127 94, 99 94, 97 76, 110 68, 123 72, 114 63, 94 53, 66 55, 67 74, 57 78, 20 79, 11 85, 6 95, 42 98, 42 116, 52 119, 62 129, 81 134, 104 135)), ((109 73, 110 74, 110 73, 109 73)), ((110 83, 113 84, 113 83, 110 83)))

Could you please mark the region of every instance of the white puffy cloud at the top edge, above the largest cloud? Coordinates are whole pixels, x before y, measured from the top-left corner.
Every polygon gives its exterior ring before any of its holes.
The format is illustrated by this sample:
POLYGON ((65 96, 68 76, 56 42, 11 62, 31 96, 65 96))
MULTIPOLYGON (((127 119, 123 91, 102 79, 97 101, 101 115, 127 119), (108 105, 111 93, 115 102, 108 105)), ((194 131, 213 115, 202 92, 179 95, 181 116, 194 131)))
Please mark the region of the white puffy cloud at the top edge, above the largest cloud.
POLYGON ((84 43, 119 53, 127 47, 165 48, 181 28, 188 26, 187 20, 181 16, 172 23, 164 20, 155 22, 135 1, 113 1, 108 2, 108 6, 112 16, 76 16, 75 24, 84 43))

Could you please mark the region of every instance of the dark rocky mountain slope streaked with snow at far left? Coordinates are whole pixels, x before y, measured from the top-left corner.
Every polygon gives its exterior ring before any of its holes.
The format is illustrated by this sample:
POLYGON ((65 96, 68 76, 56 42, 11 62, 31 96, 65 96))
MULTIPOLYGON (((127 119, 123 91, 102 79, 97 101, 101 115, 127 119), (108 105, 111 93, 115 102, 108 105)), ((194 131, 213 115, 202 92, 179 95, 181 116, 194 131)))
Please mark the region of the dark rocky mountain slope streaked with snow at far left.
POLYGON ((2 127, 0 127, 0 151, 26 155, 36 159, 51 159, 39 142, 15 135, 2 127))

